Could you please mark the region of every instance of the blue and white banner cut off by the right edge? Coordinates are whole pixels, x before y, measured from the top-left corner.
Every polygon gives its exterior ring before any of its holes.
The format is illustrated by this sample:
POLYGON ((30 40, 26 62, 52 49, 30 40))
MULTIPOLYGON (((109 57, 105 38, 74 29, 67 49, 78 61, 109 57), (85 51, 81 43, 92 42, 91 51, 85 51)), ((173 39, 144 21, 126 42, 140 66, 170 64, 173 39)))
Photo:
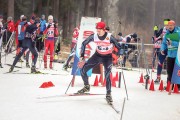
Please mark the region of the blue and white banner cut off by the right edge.
POLYGON ((172 84, 180 84, 180 42, 172 75, 172 84))

